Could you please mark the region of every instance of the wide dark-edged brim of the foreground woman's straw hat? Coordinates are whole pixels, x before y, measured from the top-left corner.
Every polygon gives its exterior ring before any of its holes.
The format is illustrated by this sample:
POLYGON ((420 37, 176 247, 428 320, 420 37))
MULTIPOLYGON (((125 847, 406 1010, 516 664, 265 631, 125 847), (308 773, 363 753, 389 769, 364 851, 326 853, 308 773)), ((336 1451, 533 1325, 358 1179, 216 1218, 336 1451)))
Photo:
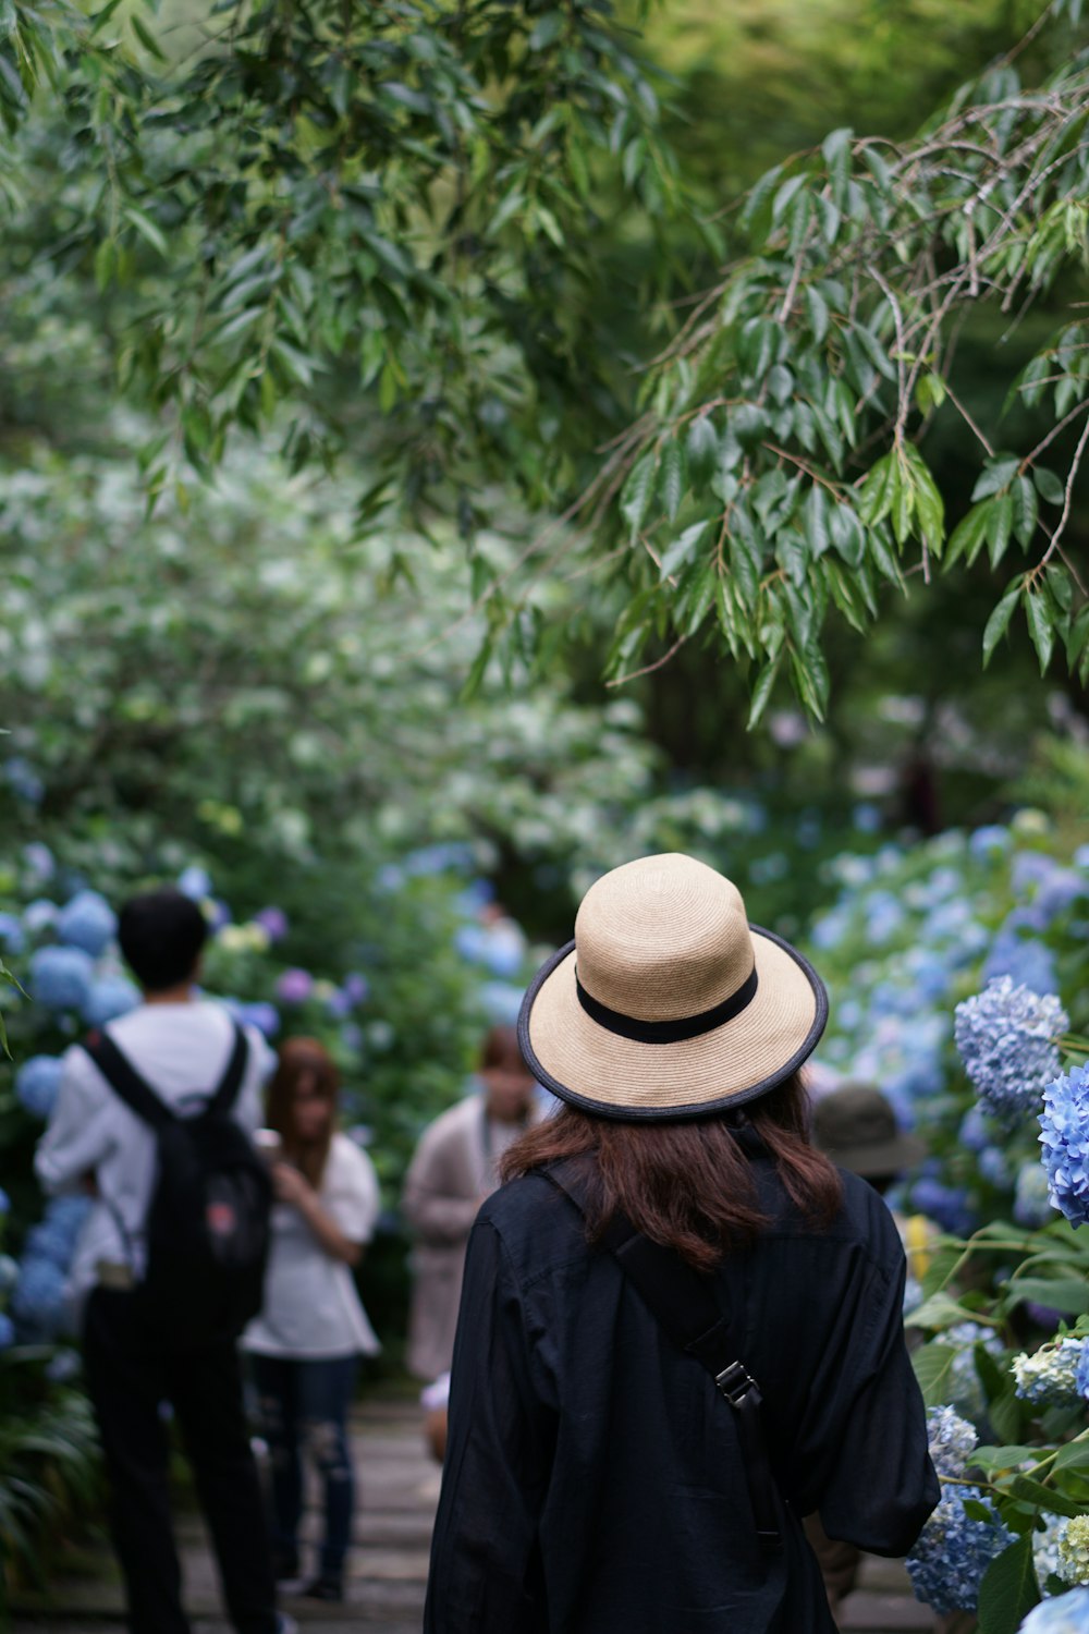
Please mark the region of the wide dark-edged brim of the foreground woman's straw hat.
POLYGON ((758 987, 745 1010, 669 1044, 622 1038, 591 1020, 575 989, 575 943, 537 972, 518 1018, 534 1077, 599 1118, 707 1118, 767 1095, 816 1049, 828 993, 797 948, 749 925, 758 987))

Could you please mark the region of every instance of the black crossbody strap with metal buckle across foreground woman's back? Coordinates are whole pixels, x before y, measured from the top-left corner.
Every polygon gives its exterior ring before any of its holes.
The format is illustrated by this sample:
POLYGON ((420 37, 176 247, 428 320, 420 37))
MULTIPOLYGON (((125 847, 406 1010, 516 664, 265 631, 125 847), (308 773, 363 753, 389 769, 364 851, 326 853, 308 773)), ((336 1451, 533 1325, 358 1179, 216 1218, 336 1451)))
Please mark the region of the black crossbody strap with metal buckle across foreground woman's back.
MULTIPOLYGON (((539 1173, 583 1212, 576 1163, 555 1163, 539 1173)), ((671 1248, 651 1242, 624 1214, 614 1216, 601 1240, 669 1338, 710 1373, 715 1389, 730 1402, 736 1415, 756 1533, 766 1554, 780 1554, 779 1493, 767 1456, 762 1395, 735 1353, 712 1279, 692 1270, 671 1248)))

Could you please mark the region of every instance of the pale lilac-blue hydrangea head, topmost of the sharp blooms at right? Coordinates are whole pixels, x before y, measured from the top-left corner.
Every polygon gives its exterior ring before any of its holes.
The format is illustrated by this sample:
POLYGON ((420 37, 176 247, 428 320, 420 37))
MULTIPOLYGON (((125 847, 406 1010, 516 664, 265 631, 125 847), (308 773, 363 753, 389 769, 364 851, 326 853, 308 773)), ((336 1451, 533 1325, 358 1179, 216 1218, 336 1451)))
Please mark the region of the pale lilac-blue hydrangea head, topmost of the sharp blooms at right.
POLYGON ((989 1113, 1007 1126, 1038 1111, 1043 1087, 1058 1072, 1053 1042, 1069 1028, 1055 995, 1016 987, 1009 975, 957 1005, 953 1036, 965 1072, 989 1113))

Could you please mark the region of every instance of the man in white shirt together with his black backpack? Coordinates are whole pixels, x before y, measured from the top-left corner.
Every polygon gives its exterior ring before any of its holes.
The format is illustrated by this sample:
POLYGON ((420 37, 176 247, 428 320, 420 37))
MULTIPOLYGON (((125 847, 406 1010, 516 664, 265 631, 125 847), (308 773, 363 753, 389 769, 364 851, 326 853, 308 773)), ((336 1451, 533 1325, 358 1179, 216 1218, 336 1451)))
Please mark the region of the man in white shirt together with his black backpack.
POLYGON ((111 1484, 132 1634, 189 1634, 168 1498, 173 1409, 238 1634, 284 1634, 237 1338, 260 1309, 271 1186, 251 1144, 274 1065, 196 989, 207 926, 180 891, 134 897, 121 953, 144 1002, 75 1044, 38 1176, 90 1191, 70 1294, 111 1484))

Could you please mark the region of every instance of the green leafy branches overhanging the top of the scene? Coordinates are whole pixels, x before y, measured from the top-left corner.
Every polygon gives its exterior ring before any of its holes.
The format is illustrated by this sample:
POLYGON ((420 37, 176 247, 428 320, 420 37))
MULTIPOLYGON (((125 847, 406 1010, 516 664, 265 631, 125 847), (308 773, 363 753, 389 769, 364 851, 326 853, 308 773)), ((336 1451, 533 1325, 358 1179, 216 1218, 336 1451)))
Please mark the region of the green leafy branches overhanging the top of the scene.
POLYGON ((186 51, 119 0, 7 18, 8 255, 93 270, 152 500, 235 430, 346 453, 361 533, 457 518, 480 675, 547 659, 573 572, 614 681, 712 641, 753 721, 779 676, 823 716, 833 618, 986 570, 985 657, 1020 609, 1089 680, 1079 0, 918 137, 836 129, 715 230, 604 0, 227 3, 186 51), (514 562, 475 551, 488 480, 529 510, 514 562))

